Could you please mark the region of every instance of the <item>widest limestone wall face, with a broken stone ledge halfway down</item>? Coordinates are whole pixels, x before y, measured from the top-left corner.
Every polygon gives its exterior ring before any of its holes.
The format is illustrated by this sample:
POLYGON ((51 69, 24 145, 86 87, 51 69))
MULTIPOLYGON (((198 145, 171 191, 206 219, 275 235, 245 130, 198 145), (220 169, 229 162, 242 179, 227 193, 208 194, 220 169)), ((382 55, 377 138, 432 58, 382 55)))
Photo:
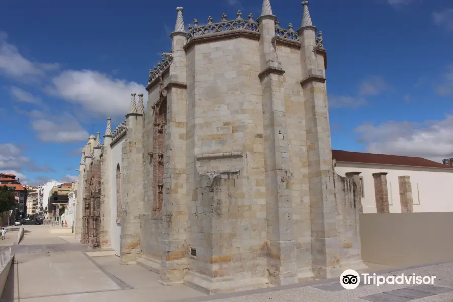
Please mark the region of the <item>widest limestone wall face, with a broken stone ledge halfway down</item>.
POLYGON ((235 38, 197 44, 187 52, 188 243, 196 250, 189 283, 200 283, 196 273, 266 277, 258 47, 256 40, 235 38))

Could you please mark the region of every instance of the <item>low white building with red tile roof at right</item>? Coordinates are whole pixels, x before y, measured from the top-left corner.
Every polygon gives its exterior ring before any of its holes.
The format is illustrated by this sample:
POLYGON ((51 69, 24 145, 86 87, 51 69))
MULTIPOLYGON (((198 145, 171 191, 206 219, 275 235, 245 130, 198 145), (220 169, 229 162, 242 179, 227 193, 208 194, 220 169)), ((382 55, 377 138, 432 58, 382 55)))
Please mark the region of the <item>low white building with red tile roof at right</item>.
POLYGON ((376 200, 381 198, 383 192, 376 190, 376 187, 381 187, 376 183, 378 175, 387 181, 390 213, 405 212, 402 211, 404 198, 412 199, 413 212, 453 212, 453 190, 450 188, 450 184, 453 183, 451 166, 419 157, 339 150, 332 150, 332 155, 336 161, 335 171, 339 175, 360 172, 362 206, 365 214, 379 212, 376 200), (402 178, 402 176, 406 177, 402 178), (377 199, 376 196, 378 196, 377 199))

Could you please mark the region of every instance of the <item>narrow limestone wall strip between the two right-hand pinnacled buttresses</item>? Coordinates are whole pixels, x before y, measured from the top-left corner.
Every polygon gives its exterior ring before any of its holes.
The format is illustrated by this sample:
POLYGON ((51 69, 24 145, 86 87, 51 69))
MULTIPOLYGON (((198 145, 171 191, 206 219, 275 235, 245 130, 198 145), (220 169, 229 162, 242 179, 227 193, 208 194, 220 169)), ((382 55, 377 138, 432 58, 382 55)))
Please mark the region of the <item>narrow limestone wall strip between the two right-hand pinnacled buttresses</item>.
POLYGON ((277 44, 277 57, 285 71, 282 83, 286 117, 286 137, 290 174, 286 188, 293 207, 293 232, 296 241, 296 263, 299 280, 313 277, 311 272, 310 192, 307 161, 305 106, 300 85, 300 47, 277 44))

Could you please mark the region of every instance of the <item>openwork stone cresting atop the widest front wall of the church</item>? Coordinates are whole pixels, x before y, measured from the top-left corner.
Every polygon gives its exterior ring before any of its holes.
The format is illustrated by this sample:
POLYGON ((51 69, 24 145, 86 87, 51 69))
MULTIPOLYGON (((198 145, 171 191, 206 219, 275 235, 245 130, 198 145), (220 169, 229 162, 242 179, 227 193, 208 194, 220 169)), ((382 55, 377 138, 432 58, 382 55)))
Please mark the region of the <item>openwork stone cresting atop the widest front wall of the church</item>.
POLYGON ((217 23, 212 23, 212 17, 209 17, 206 25, 198 25, 198 20, 194 19, 194 26, 192 27, 192 25, 189 24, 186 41, 190 42, 197 38, 237 30, 250 31, 259 34, 258 23, 253 20, 252 14, 248 15, 248 20, 242 18, 241 11, 238 11, 236 15, 237 17, 235 20, 226 20, 226 14, 223 14, 222 20, 217 23))

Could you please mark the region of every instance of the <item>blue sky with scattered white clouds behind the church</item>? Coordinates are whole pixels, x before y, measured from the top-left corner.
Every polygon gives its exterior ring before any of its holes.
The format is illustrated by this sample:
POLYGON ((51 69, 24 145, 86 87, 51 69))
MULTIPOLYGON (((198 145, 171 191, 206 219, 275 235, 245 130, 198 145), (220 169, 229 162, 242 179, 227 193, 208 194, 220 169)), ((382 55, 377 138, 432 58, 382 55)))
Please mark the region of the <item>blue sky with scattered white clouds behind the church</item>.
MULTIPOLYGON (((271 0, 280 25, 300 1, 271 0)), ((261 12, 261 0, 16 1, 0 5, 0 171, 39 184, 77 174, 81 147, 124 118, 130 92, 170 51, 176 7, 186 27, 261 12), (3 6, 3 8, 2 8, 3 6), (94 129, 94 130, 93 130, 94 129)), ((335 149, 453 155, 453 3, 311 0, 328 51, 335 149)))

